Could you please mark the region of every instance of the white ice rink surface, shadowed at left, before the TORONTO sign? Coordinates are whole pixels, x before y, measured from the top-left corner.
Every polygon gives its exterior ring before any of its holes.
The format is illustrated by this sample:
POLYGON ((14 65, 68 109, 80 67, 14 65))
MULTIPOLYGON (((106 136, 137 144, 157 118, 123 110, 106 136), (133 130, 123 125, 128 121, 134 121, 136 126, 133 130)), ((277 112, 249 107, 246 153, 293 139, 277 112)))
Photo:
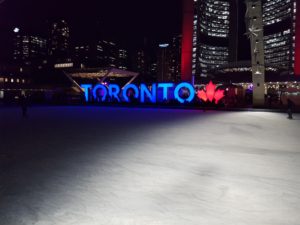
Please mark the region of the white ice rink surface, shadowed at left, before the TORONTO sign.
POLYGON ((0 224, 300 224, 300 115, 286 117, 0 108, 0 224))

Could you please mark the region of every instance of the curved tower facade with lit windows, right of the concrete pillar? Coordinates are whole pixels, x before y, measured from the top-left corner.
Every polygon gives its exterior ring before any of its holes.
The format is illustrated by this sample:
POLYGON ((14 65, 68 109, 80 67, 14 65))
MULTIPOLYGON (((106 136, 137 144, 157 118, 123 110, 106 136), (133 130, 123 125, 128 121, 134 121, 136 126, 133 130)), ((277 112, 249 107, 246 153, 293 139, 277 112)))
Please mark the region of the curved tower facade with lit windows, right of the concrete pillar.
POLYGON ((266 67, 293 75, 296 64, 296 22, 298 20, 299 23, 300 20, 297 2, 296 0, 262 2, 266 67))

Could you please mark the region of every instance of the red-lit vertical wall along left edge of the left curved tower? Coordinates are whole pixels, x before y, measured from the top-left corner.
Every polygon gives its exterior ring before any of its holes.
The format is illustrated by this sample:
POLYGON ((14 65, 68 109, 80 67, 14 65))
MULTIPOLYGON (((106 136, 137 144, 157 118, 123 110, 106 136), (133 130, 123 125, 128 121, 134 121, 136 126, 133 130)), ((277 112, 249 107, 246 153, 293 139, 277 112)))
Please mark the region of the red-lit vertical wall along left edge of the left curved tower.
POLYGON ((183 0, 181 79, 192 82, 194 0, 183 0))

